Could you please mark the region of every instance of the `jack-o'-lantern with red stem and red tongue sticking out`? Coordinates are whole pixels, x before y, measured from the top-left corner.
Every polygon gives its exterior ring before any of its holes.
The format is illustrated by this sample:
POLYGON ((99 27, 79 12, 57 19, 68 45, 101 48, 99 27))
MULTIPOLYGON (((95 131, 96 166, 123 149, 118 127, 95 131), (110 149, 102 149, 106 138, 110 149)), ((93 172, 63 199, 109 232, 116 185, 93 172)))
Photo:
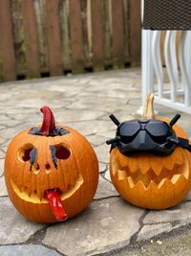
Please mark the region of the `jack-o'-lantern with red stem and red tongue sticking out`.
POLYGON ((5 178, 11 201, 23 216, 51 223, 88 206, 96 193, 98 163, 85 137, 73 128, 55 126, 48 106, 41 111, 41 128, 27 128, 11 140, 5 178))

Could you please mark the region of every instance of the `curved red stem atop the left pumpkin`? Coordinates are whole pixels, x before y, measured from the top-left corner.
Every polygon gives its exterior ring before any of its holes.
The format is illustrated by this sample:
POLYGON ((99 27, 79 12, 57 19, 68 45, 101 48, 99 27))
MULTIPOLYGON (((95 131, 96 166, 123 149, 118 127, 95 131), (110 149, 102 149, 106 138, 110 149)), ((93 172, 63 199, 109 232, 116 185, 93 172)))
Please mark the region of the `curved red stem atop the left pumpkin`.
POLYGON ((43 113, 43 123, 40 128, 40 133, 43 136, 51 136, 53 130, 55 129, 55 121, 53 117, 53 112, 49 106, 43 106, 40 108, 43 113))

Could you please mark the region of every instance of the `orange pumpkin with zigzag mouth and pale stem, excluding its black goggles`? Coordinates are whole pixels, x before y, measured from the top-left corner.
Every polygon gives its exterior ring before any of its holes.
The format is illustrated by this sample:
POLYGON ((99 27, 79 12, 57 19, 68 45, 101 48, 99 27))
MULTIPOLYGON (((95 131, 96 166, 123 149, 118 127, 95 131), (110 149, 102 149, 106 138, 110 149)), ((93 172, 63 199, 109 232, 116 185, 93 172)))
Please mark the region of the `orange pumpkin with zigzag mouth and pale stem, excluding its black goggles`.
MULTIPOLYGON (((146 103, 144 116, 154 118, 153 94, 146 103)), ((169 123, 167 119, 156 119, 169 123)), ((186 138, 178 126, 176 134, 186 138)), ((191 153, 176 147, 169 155, 147 152, 126 156, 117 148, 110 154, 110 174, 122 198, 139 207, 164 209, 178 204, 191 187, 191 153)))

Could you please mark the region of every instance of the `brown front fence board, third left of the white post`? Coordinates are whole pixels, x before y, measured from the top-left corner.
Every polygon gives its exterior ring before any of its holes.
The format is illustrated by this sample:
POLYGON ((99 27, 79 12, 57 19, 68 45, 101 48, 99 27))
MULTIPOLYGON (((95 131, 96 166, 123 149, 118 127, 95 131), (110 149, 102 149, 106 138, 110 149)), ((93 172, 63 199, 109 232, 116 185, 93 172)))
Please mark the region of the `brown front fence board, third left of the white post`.
POLYGON ((104 69, 103 52, 103 6, 102 0, 91 1, 93 66, 95 70, 104 69))

